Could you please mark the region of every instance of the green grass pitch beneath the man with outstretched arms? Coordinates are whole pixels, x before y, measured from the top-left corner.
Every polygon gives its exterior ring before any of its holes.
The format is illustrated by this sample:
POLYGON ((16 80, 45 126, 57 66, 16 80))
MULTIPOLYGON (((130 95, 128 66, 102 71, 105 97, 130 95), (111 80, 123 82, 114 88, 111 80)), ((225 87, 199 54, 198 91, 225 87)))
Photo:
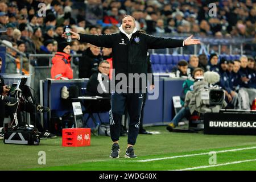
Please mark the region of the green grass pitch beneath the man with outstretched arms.
POLYGON ((160 134, 138 135, 134 146, 137 159, 124 158, 127 137, 119 140, 119 159, 109 158, 110 137, 92 135, 90 146, 85 147, 62 147, 61 137, 41 140, 39 146, 0 142, 0 170, 256 170, 256 136, 170 133, 165 126, 146 129, 159 131, 160 134), (245 149, 237 150, 239 148, 245 149), (224 150, 227 152, 218 152, 224 150), (46 154, 46 164, 38 163, 40 151, 46 154), (212 157, 208 155, 210 151, 217 152, 216 166, 209 164, 212 157), (164 159, 156 160, 159 158, 164 159))

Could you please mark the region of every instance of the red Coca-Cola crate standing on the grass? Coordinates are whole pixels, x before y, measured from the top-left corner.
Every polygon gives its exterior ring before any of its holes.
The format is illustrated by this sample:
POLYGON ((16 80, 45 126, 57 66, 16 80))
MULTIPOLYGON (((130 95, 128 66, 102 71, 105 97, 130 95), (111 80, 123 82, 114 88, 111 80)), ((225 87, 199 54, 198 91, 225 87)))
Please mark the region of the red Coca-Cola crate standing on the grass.
POLYGON ((73 128, 62 130, 62 146, 90 146, 90 129, 73 128))

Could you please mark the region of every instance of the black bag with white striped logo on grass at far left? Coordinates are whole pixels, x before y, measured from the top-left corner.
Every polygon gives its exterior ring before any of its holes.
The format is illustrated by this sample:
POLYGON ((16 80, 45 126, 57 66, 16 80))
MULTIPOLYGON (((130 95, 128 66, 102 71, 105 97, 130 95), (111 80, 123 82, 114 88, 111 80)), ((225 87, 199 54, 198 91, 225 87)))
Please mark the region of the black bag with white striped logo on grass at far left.
POLYGON ((7 129, 3 142, 10 144, 39 145, 40 137, 35 127, 28 125, 13 126, 7 129))

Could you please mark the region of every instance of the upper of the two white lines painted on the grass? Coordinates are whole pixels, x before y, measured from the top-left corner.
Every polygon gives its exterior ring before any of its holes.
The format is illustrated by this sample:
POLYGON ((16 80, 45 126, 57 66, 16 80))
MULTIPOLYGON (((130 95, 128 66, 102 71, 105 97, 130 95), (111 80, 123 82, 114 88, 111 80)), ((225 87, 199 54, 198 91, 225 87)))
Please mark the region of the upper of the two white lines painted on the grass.
MULTIPOLYGON (((256 148, 256 147, 235 148, 235 149, 231 149, 231 150, 216 151, 216 153, 234 152, 234 151, 241 151, 241 150, 250 150, 250 149, 254 149, 254 148, 256 148)), ((208 155, 208 154, 209 154, 209 152, 204 152, 204 153, 200 153, 200 154, 177 155, 177 156, 171 156, 171 157, 166 157, 166 158, 155 158, 155 159, 145 159, 145 160, 131 160, 131 162, 150 162, 150 161, 155 161, 155 160, 187 158, 187 157, 190 157, 190 156, 208 155)))

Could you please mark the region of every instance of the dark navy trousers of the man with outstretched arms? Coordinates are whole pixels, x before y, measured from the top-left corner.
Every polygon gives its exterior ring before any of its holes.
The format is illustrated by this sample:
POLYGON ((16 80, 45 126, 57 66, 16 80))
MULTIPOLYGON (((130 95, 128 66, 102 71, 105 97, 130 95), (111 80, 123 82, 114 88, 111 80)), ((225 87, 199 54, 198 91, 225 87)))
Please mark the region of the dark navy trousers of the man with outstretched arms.
POLYGON ((111 96, 110 134, 113 142, 119 140, 121 130, 122 114, 127 105, 130 116, 128 144, 134 145, 138 137, 141 109, 143 104, 143 94, 141 93, 114 93, 111 96))

